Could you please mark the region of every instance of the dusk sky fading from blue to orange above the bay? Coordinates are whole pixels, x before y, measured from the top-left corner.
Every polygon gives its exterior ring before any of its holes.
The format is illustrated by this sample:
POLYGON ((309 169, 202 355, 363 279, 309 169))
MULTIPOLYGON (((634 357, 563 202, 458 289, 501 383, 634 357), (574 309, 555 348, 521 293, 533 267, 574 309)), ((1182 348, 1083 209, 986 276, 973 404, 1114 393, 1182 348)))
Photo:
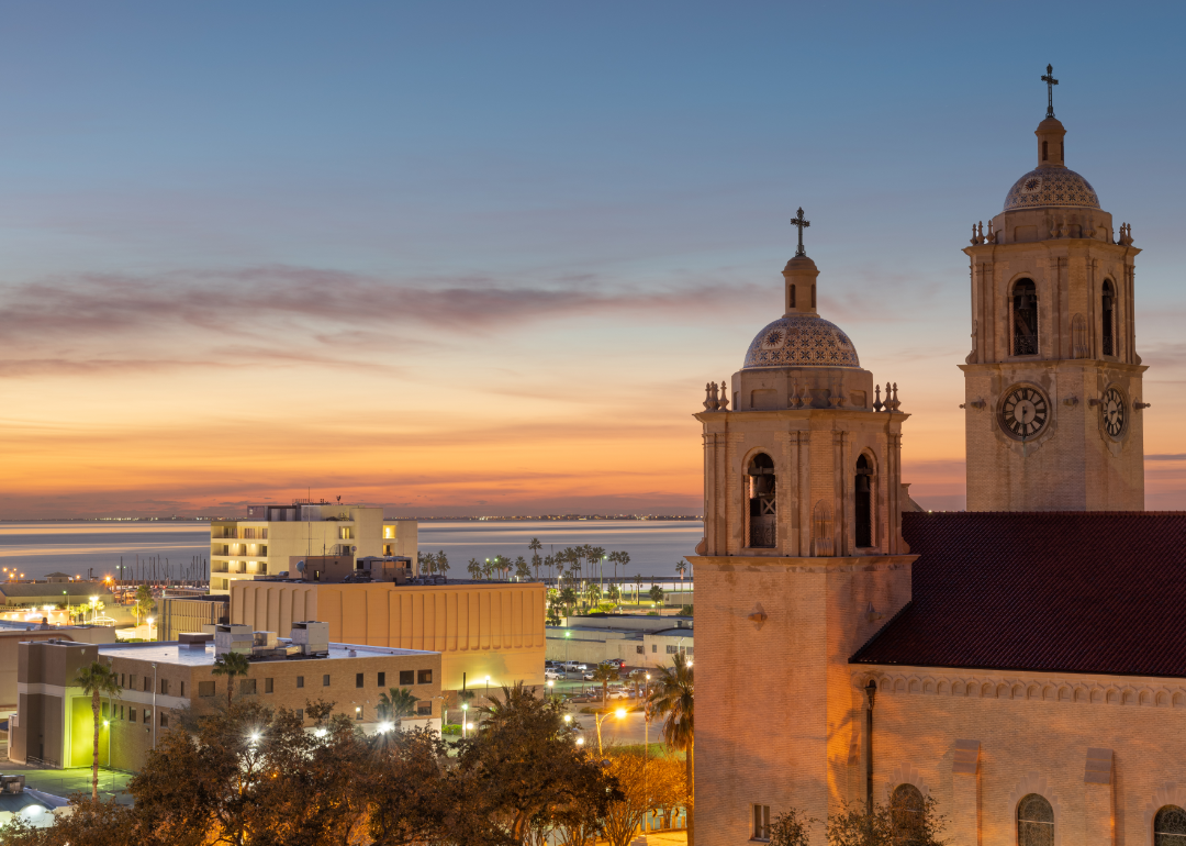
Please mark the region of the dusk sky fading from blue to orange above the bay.
POLYGON ((0 519, 699 514, 703 384, 820 312, 961 508, 969 227, 1130 222, 1147 507, 1186 509, 1181 5, 0 4, 0 519))

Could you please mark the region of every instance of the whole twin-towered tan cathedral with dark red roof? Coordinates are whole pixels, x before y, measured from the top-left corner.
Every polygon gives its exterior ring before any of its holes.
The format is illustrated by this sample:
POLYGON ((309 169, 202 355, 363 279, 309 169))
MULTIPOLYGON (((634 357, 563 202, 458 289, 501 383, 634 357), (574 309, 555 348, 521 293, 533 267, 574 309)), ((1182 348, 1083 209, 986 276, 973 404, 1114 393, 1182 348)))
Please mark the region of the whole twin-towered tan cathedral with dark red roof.
POLYGON ((707 387, 701 846, 927 800, 954 846, 1186 846, 1186 515, 1143 511, 1140 250, 1042 79, 1037 166, 963 248, 967 511, 910 498, 910 415, 820 314, 802 209, 783 314, 707 387))

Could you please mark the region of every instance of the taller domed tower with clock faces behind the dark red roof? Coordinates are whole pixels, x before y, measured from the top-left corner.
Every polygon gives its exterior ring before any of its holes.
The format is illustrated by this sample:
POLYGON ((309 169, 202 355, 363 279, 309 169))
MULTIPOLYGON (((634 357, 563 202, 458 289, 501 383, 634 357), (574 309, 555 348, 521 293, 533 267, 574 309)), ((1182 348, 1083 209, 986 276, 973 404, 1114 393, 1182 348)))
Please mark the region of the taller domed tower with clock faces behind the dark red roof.
POLYGON ((1144 510, 1131 228, 1065 164, 1047 68, 1038 166, 973 227, 969 511, 1144 510))

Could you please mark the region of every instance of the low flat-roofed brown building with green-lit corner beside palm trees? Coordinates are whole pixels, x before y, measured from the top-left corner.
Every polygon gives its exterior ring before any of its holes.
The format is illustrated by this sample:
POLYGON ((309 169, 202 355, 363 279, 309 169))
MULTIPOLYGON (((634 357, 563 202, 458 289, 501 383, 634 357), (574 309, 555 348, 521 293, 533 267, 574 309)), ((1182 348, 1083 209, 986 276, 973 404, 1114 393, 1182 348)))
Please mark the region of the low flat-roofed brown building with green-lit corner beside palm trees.
MULTIPOLYGON (((253 635, 247 634, 249 638, 253 635)), ((280 649, 255 650, 247 678, 235 680, 236 696, 255 696, 270 707, 300 711, 310 700, 326 699, 374 732, 380 727, 380 694, 404 687, 420 699, 417 715, 404 725, 419 723, 439 730, 438 653, 329 643, 324 656, 282 655, 291 651, 285 649, 291 643, 280 640, 274 644, 280 649)), ((102 704, 107 725, 101 727, 100 764, 138 770, 160 736, 177 725, 180 711, 225 702, 227 681, 211 675, 213 647, 209 635, 197 636, 192 643, 21 643, 20 701, 12 718, 8 757, 50 767, 90 765, 91 701, 71 682, 79 668, 100 661, 119 675, 122 688, 117 698, 102 704)))

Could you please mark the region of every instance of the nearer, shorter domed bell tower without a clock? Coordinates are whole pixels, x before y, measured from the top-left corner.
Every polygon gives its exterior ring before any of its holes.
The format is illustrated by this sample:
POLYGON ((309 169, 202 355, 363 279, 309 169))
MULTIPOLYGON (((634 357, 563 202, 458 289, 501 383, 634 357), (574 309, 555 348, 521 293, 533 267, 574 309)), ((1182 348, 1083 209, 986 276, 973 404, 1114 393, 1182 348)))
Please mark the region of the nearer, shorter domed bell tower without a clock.
POLYGON ((783 269, 782 317, 728 383, 706 386, 696 414, 704 538, 689 560, 707 695, 696 705, 695 826, 710 844, 765 837, 751 806, 825 819, 865 801, 865 694, 848 659, 911 596, 908 415, 897 386, 882 394, 848 335, 820 316, 802 209, 792 223, 799 243, 783 269), (752 730, 753 713, 779 726, 774 743, 752 730))

